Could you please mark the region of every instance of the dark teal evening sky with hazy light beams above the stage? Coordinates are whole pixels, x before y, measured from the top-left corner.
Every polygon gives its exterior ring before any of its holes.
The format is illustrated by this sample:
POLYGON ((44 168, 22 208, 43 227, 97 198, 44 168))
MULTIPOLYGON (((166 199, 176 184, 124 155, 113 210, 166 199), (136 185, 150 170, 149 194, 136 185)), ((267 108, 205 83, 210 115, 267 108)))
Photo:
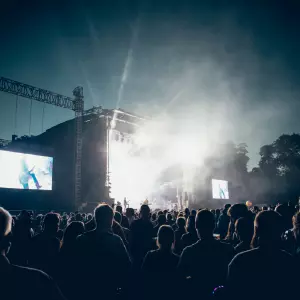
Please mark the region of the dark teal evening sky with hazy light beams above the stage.
MULTIPOLYGON (((120 107, 195 124, 199 139, 204 128, 246 142, 253 167, 262 145, 300 126, 297 2, 6 0, 0 76, 66 96, 81 85, 86 109, 120 107)), ((33 102, 30 122, 30 100, 15 107, 0 92, 0 138, 73 117, 33 102)))

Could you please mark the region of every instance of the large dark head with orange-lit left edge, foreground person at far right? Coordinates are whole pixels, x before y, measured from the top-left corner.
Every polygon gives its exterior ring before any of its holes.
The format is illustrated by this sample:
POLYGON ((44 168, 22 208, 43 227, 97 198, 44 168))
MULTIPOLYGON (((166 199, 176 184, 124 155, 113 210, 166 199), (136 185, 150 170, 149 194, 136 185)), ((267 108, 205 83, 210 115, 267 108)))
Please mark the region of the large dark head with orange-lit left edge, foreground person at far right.
POLYGON ((282 217, 275 211, 261 211, 254 221, 252 245, 275 246, 280 244, 282 234, 282 217))

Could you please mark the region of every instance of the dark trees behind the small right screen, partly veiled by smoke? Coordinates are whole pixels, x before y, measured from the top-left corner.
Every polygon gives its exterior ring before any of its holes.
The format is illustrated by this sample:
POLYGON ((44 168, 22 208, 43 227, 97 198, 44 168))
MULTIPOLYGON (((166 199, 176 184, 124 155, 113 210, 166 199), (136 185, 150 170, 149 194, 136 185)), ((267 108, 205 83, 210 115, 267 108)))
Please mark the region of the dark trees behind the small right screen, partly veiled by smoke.
POLYGON ((233 183, 236 200, 259 204, 298 200, 300 196, 300 135, 283 134, 260 148, 257 167, 248 170, 247 144, 227 142, 198 168, 203 174, 233 183))

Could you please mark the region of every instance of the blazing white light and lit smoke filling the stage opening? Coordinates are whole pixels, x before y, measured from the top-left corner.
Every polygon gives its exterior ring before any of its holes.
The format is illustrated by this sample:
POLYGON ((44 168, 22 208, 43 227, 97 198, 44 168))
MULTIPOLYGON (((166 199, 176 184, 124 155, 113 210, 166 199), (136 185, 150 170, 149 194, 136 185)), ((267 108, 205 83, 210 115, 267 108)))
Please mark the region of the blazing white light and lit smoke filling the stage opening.
MULTIPOLYGON (((126 136, 133 143, 121 143, 111 137, 109 147, 109 169, 111 197, 122 203, 130 200, 130 207, 139 208, 148 198, 151 202, 159 194, 162 175, 175 165, 184 169, 182 184, 186 191, 192 190, 194 167, 205 157, 205 139, 195 133, 192 126, 174 131, 169 123, 154 122, 126 136)), ((180 179, 179 179, 180 180, 180 179)))

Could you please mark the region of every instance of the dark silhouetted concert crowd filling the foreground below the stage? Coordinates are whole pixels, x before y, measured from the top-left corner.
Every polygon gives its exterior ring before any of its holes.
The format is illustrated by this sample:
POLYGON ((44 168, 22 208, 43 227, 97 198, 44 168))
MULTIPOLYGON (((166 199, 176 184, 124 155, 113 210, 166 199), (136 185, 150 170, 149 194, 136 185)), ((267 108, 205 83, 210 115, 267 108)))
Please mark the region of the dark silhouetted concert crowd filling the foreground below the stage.
POLYGON ((1 299, 292 299, 299 257, 299 208, 288 204, 0 208, 1 299))

